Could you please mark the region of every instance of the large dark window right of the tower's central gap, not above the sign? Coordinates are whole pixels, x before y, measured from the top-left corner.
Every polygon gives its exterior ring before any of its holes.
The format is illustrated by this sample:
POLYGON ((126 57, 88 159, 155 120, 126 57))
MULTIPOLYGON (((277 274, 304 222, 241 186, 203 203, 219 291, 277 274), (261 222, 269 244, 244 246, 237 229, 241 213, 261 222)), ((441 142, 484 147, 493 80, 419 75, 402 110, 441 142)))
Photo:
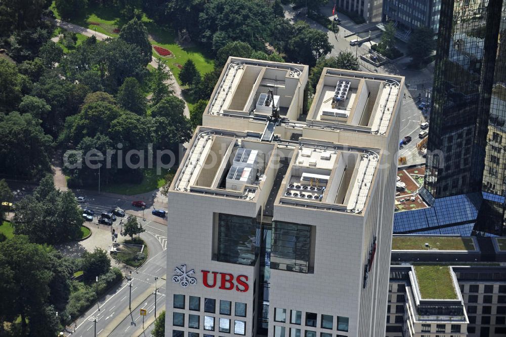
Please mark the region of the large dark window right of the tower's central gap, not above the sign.
POLYGON ((311 226, 274 221, 272 227, 271 268, 309 272, 311 226))

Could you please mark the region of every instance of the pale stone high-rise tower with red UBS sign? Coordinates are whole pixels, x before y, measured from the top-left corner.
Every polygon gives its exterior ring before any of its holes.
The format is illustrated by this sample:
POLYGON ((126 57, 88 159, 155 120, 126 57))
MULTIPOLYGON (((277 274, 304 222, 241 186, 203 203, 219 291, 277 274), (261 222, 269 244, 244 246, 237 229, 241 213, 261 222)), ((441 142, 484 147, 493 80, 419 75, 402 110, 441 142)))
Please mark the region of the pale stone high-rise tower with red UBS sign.
POLYGON ((229 58, 168 194, 166 333, 383 336, 403 78, 229 58), (394 163, 392 165, 391 163, 394 163))

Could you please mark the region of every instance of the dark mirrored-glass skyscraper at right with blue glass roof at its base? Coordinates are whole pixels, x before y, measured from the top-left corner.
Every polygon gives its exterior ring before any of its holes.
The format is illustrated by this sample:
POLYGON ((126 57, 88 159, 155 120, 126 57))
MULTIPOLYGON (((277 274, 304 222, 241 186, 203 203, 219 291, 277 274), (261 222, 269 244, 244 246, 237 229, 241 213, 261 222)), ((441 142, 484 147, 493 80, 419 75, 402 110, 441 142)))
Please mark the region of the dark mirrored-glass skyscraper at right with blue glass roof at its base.
POLYGON ((503 231, 505 6, 503 0, 442 2, 420 191, 432 207, 398 213, 396 221, 418 221, 426 233, 459 226, 468 235, 473 226, 488 233, 503 231))

